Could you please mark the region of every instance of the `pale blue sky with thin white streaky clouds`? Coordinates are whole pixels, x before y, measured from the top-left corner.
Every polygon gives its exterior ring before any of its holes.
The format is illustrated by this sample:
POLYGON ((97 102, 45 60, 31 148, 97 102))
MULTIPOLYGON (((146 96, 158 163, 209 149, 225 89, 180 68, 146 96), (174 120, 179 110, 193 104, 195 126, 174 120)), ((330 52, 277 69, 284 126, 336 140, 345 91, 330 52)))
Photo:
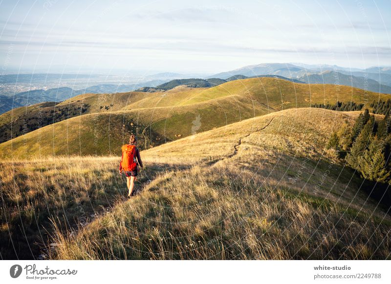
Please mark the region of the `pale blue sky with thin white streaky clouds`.
POLYGON ((0 72, 391 66, 391 0, 0 0, 0 72))

